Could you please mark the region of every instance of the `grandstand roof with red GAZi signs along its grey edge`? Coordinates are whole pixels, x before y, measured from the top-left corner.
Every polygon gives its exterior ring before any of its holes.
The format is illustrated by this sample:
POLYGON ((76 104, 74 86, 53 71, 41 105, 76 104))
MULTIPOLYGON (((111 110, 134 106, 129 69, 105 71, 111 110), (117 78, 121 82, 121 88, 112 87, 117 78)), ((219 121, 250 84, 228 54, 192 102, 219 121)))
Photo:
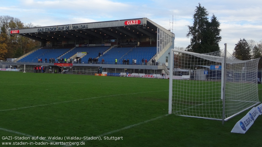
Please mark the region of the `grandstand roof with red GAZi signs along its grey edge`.
POLYGON ((156 39, 157 29, 174 37, 172 32, 147 18, 13 29, 9 30, 9 34, 19 34, 41 42, 94 40, 96 38, 113 40, 151 37, 156 39))

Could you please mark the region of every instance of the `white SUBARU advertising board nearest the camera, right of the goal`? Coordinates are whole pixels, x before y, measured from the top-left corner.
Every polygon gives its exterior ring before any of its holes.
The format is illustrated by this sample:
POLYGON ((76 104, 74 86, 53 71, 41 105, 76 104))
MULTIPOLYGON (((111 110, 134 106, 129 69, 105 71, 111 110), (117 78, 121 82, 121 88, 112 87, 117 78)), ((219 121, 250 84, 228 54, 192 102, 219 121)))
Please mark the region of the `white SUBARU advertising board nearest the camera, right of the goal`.
POLYGON ((247 130, 253 125, 256 118, 259 116, 258 111, 253 107, 243 118, 238 121, 231 133, 241 133, 245 134, 247 130))

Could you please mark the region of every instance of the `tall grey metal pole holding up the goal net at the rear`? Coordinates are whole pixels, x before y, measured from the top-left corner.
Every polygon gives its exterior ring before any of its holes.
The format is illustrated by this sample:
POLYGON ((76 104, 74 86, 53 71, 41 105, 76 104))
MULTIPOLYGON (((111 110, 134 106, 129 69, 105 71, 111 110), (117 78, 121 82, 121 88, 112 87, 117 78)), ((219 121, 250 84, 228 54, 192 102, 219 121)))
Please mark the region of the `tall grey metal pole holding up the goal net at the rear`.
POLYGON ((225 100, 225 96, 226 96, 226 52, 227 52, 227 50, 226 50, 226 43, 224 44, 225 45, 225 55, 224 55, 224 79, 223 79, 223 113, 222 113, 222 125, 224 124, 224 122, 225 122, 225 102, 226 102, 226 100, 225 100))

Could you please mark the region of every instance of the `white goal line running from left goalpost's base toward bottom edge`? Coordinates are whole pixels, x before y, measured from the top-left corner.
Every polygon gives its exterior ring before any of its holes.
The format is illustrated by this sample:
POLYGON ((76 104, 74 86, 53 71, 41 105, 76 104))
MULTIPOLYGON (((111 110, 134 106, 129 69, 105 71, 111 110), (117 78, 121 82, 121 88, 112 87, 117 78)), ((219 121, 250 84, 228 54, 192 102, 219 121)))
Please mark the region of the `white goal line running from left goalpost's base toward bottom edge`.
MULTIPOLYGON (((164 117, 164 116, 168 116, 169 114, 165 114, 165 115, 162 115, 162 116, 158 116, 158 117, 156 117, 156 118, 152 118, 152 119, 149 119, 149 120, 146 120, 146 121, 142 121, 142 122, 140 122, 140 123, 136 123, 136 124, 134 124, 134 125, 129 125, 129 126, 127 126, 127 127, 122 127, 122 128, 120 128, 120 129, 117 129, 117 130, 113 130, 113 131, 110 131, 110 132, 106 132, 106 133, 104 133, 104 134, 101 134, 101 135, 98 135, 98 136, 95 136, 95 137, 103 137, 103 136, 106 136, 106 135, 109 135, 109 134, 112 134, 112 133, 115 133, 115 132, 118 132, 118 131, 122 131, 122 130, 125 130, 125 129, 129 129, 129 128, 131 128, 131 127, 135 127, 135 126, 138 126, 138 125, 142 125, 142 124, 144 124, 144 123, 148 123, 148 122, 150 122, 150 121, 155 121, 155 120, 157 120, 157 119, 159 119, 159 118, 162 118, 162 117, 164 117)), ((91 136, 90 136, 91 137, 91 136)), ((86 142, 86 141, 89 141, 89 140, 82 140, 82 141, 79 141, 79 143, 81 143, 81 142, 86 142)))

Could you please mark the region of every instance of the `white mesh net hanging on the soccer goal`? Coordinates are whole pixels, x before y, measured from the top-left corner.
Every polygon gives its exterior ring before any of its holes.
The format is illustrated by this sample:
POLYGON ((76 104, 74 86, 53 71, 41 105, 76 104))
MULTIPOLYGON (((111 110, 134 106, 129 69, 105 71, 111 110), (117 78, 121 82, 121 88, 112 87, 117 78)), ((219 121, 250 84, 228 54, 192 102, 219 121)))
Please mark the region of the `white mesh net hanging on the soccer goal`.
POLYGON ((242 61, 227 52, 224 69, 224 52, 198 54, 173 50, 171 113, 227 121, 260 103, 259 59, 242 61))

